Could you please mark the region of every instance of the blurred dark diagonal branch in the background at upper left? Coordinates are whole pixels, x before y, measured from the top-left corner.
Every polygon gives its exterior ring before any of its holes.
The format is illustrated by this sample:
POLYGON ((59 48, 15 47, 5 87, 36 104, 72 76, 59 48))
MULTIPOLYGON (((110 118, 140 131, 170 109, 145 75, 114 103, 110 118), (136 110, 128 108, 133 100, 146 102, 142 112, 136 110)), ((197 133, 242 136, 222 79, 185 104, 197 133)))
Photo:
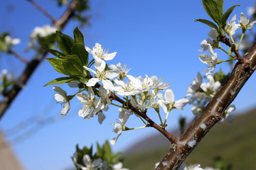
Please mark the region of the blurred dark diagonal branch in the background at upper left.
MULTIPOLYGON (((68 6, 68 9, 63 13, 63 16, 55 23, 55 26, 64 28, 65 25, 70 21, 70 18, 73 16, 73 13, 75 12, 75 6, 78 4, 78 0, 74 0, 70 3, 70 6, 68 6)), ((21 77, 18 78, 18 83, 25 85, 28 81, 28 79, 31 77, 34 70, 38 67, 38 64, 46 57, 48 52, 43 52, 43 57, 40 57, 40 59, 33 59, 31 62, 29 62, 26 66, 26 69, 24 69, 23 73, 21 74, 21 77)), ((16 96, 18 95, 19 91, 21 91, 22 86, 21 85, 14 85, 12 89, 4 96, 3 101, 0 103, 0 119, 6 112, 7 108, 11 105, 11 103, 14 101, 16 96)))

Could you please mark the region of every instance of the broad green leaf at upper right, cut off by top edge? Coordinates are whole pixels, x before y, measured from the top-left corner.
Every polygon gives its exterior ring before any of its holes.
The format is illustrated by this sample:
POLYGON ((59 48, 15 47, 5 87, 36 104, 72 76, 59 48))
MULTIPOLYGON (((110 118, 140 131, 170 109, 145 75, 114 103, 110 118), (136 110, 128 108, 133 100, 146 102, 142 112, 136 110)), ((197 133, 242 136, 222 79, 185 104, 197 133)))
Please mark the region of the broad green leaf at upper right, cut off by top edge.
POLYGON ((203 7, 208 13, 208 16, 221 26, 221 19, 223 17, 223 0, 202 0, 203 7))

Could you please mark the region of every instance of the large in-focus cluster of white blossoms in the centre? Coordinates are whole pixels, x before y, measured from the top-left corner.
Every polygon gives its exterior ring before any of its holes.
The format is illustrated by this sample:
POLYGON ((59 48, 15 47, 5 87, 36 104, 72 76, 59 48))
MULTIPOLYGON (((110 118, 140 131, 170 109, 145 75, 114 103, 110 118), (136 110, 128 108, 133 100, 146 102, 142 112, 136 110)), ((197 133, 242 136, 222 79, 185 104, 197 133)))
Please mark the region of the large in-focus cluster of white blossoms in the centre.
MULTIPOLYGON (((111 96, 124 96, 124 103, 119 106, 118 123, 114 123, 114 132, 117 133, 117 137, 111 140, 112 145, 115 144, 123 130, 130 130, 124 124, 129 115, 134 113, 131 106, 142 113, 149 108, 154 108, 158 114, 159 106, 161 106, 164 113, 168 115, 172 109, 182 110, 188 103, 187 98, 175 101, 174 92, 169 89, 171 83, 164 83, 156 76, 133 77, 128 74, 129 69, 126 65, 122 67, 118 63, 108 66, 106 61, 112 60, 117 52, 108 53, 109 50, 105 50, 99 43, 96 43, 92 50, 89 47, 85 47, 85 50, 92 54, 95 69, 84 66, 85 72, 90 72, 92 76, 85 84, 87 88, 75 94, 82 103, 78 115, 87 120, 97 115, 99 123, 102 123, 106 118, 103 111, 107 111, 110 105, 117 106, 113 103, 111 96), (87 94, 82 91, 87 91, 87 94)), ((66 115, 70 110, 70 98, 73 97, 67 96, 67 93, 58 86, 53 89, 58 92, 55 94, 56 101, 63 103, 61 115, 66 115)), ((164 127, 165 123, 166 121, 161 122, 161 125, 164 127)))

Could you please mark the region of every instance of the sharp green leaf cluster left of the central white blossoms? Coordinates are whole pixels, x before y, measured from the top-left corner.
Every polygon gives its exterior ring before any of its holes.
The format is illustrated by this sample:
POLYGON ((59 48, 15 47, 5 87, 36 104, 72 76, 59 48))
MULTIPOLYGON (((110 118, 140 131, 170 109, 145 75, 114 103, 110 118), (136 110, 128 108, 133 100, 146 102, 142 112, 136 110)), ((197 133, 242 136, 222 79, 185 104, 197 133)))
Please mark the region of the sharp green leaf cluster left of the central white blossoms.
POLYGON ((45 86, 51 84, 65 84, 74 81, 86 83, 88 81, 90 74, 83 68, 83 66, 87 66, 88 64, 88 52, 85 50, 84 38, 78 27, 75 28, 73 33, 74 39, 57 31, 56 40, 60 51, 46 49, 56 56, 54 58, 48 58, 48 62, 50 62, 57 72, 67 75, 68 77, 54 79, 45 86))

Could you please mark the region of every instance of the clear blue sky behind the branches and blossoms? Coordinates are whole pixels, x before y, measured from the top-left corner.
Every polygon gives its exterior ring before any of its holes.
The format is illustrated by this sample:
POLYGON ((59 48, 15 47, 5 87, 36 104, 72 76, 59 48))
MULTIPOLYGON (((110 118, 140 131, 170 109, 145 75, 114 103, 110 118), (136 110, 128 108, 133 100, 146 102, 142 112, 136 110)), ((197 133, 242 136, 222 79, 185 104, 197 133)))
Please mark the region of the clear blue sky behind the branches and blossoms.
MULTIPOLYGON (((53 1, 38 0, 38 4, 56 18, 63 13, 63 8, 57 8, 53 1)), ((254 5, 248 0, 225 0, 224 10, 236 4, 241 6, 235 8, 230 18, 235 13, 239 18, 240 12, 247 15, 247 7, 254 5)), ((209 19, 201 1, 92 0, 90 6, 90 27, 80 30, 85 35, 85 45, 88 47, 92 48, 95 42, 99 42, 109 48, 110 52, 117 52, 117 56, 108 64, 127 64, 131 68, 129 74, 134 77, 156 75, 166 82, 173 82, 170 88, 176 99, 186 95, 188 84, 193 81, 197 72, 206 68, 206 64, 198 60, 198 50, 201 49, 200 42, 208 38, 210 28, 194 22, 196 18, 209 19)), ((36 26, 49 23, 48 18, 36 11, 28 1, 1 0, 0 31, 8 31, 12 37, 21 38, 21 44, 17 45, 16 50, 27 59, 33 57, 33 52, 23 52, 28 45, 28 35, 36 26), (12 6, 10 13, 6 12, 7 6, 12 6)), ((78 23, 71 22, 63 33, 72 36, 76 26, 78 23)), ((222 52, 216 52, 220 59, 226 59, 222 52)), ((18 77, 23 67, 14 57, 0 55, 0 70, 9 69, 9 72, 18 77)), ((219 68, 218 66, 216 71, 219 68)), ((222 64, 222 69, 228 72, 228 64, 222 64)), ((99 125, 97 118, 83 120, 78 117, 80 103, 74 98, 68 115, 60 116, 61 106, 53 98, 53 86, 43 87, 48 81, 58 77, 62 76, 46 60, 42 62, 0 121, 1 130, 6 132, 7 140, 13 143, 12 148, 25 169, 68 168, 73 164, 70 157, 75 152, 76 144, 80 147, 90 146, 116 136, 110 123, 118 118, 117 108, 110 108, 105 113, 106 120, 99 125), (40 120, 54 115, 54 123, 40 123, 40 120), (28 119, 27 123, 19 124, 28 119)), ((255 105, 255 95, 252 95, 256 94, 255 83, 253 74, 234 101, 237 113, 255 105)), ((68 90, 68 86, 61 87, 68 90)), ((68 94, 74 93, 75 90, 68 90, 68 94)), ((184 111, 172 112, 169 128, 177 126, 180 115, 192 118, 190 108, 191 106, 186 106, 184 111)), ((149 116, 156 118, 154 112, 149 113, 149 116)), ((137 118, 130 118, 127 122, 129 128, 141 125, 143 124, 137 118)), ((115 152, 125 151, 134 142, 152 133, 156 133, 153 128, 123 132, 112 148, 115 152)))

